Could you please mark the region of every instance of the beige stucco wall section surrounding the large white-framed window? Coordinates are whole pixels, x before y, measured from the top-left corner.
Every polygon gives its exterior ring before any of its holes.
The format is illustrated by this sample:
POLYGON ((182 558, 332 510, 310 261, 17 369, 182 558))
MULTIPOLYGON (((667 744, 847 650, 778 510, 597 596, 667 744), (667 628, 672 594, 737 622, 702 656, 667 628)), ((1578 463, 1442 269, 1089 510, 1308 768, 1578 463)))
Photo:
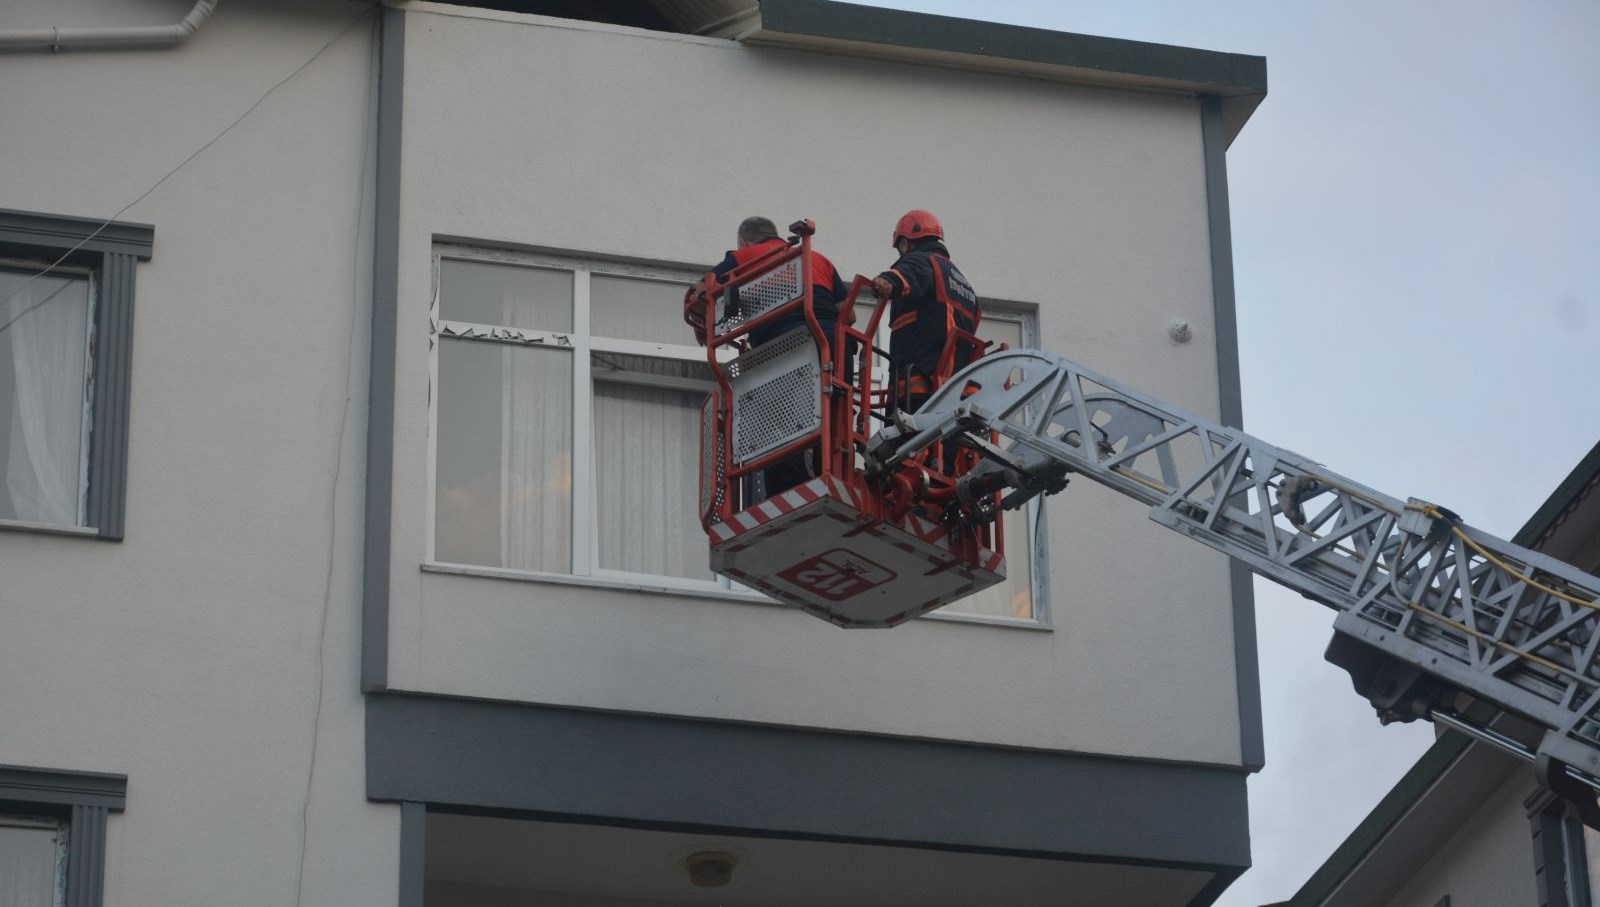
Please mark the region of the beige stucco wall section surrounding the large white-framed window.
POLYGON ((1195 99, 408 8, 390 686, 1238 763, 1224 558, 1085 481, 1050 504, 1048 633, 421 569, 435 237, 710 262, 810 216, 850 275, 926 206, 1045 349, 1214 418, 1195 99))

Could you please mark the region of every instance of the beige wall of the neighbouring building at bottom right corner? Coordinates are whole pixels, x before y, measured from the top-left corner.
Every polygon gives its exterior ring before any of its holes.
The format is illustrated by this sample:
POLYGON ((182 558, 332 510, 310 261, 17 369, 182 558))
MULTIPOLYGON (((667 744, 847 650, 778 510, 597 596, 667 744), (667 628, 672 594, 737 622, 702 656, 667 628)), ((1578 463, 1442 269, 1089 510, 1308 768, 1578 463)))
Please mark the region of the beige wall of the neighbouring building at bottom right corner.
POLYGON ((1522 801, 1533 792, 1526 771, 1512 771, 1461 829, 1384 907, 1533 907, 1533 837, 1522 801))

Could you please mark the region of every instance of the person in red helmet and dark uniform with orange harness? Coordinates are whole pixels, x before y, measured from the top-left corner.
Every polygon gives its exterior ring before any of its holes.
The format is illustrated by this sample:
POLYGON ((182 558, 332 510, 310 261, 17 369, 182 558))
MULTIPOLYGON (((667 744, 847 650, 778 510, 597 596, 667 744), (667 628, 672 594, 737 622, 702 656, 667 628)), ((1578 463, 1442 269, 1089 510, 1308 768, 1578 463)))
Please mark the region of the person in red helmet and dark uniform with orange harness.
POLYGON ((982 318, 973 285, 950 261, 944 227, 923 210, 907 211, 894 224, 899 259, 872 280, 878 299, 890 301, 890 362, 894 397, 915 411, 949 378, 978 354, 971 342, 957 342, 941 362, 955 330, 976 333, 982 318))

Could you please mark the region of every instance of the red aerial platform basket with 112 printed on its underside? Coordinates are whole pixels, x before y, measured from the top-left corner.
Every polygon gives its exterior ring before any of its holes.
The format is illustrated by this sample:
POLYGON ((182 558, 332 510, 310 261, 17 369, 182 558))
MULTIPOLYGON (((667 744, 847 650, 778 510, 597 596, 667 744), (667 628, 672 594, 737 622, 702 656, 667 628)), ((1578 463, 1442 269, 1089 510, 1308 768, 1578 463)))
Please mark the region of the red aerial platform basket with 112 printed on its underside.
MULTIPOLYGON (((1003 581, 998 521, 957 499, 971 453, 934 446, 888 475, 864 473, 867 438, 896 411, 893 382, 872 382, 886 360, 872 341, 888 301, 875 302, 866 331, 854 330, 856 299, 872 288, 858 275, 826 336, 811 304, 814 226, 800 221, 790 232, 786 246, 694 304, 704 307, 696 314, 718 384, 701 413, 699 502, 712 569, 840 627, 893 627, 1003 581), (750 346, 752 330, 797 312, 803 328, 750 346), (762 472, 806 451, 814 478, 768 496, 762 472)), ((984 349, 955 331, 934 386, 954 371, 962 344, 984 349)))

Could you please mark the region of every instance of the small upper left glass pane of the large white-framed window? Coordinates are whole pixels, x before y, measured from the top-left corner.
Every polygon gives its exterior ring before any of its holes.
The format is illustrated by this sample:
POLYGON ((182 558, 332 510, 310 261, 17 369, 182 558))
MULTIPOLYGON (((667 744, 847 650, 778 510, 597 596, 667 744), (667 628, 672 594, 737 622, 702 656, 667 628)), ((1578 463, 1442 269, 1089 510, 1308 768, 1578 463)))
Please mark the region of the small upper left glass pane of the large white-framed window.
POLYGON ((573 330, 573 274, 542 267, 442 259, 438 317, 538 331, 573 330))

